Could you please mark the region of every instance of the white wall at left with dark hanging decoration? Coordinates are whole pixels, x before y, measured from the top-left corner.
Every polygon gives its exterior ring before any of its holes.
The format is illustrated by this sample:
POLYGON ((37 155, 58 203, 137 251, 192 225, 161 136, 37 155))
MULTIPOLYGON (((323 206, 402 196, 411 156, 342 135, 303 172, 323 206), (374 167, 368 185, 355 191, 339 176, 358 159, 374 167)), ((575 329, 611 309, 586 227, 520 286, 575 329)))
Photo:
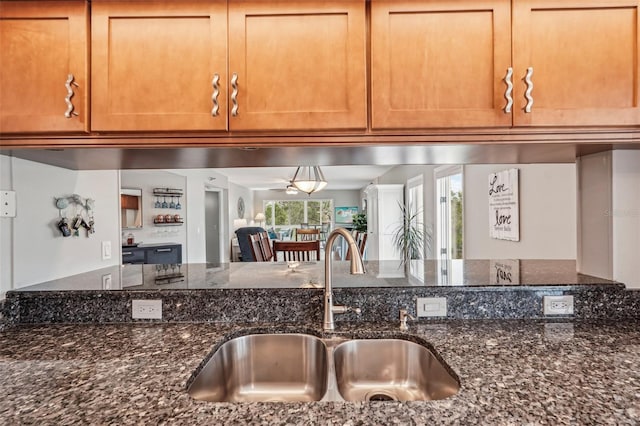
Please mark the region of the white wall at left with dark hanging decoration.
MULTIPOLYGON (((3 288, 20 288, 120 263, 116 171, 73 171, 18 158, 9 161, 17 216, 13 219, 13 284, 3 282, 3 288), (96 233, 90 237, 81 229, 79 237, 65 238, 56 228, 55 198, 71 194, 95 200, 96 233), (102 241, 111 242, 110 260, 102 260, 102 241)), ((70 207, 67 216, 72 210, 70 207)), ((4 256, 2 263, 4 270, 4 256)))

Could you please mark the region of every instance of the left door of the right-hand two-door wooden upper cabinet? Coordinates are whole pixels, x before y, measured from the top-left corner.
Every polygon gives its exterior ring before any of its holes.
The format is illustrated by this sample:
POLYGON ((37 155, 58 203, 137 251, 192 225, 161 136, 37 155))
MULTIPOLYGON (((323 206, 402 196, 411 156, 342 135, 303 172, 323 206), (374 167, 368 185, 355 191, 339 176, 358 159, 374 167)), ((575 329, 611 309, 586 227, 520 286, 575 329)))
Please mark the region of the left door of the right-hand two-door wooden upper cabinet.
POLYGON ((374 129, 511 126, 509 0, 372 0, 374 129))

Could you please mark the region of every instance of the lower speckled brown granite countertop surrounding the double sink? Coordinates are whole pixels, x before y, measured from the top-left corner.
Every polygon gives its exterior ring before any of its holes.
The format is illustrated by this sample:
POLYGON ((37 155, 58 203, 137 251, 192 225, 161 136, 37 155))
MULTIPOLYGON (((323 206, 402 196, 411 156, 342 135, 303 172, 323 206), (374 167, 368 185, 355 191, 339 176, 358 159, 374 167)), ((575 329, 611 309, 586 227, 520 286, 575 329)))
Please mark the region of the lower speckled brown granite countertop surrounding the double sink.
MULTIPOLYGON (((319 326, 319 324, 318 324, 319 326)), ((212 403, 186 383, 229 336, 277 324, 16 326, 0 332, 0 422, 14 424, 638 425, 640 324, 412 323, 456 372, 429 402, 212 403)), ((319 327, 311 324, 316 333, 319 327)), ((339 334, 399 333, 341 323, 339 334)))

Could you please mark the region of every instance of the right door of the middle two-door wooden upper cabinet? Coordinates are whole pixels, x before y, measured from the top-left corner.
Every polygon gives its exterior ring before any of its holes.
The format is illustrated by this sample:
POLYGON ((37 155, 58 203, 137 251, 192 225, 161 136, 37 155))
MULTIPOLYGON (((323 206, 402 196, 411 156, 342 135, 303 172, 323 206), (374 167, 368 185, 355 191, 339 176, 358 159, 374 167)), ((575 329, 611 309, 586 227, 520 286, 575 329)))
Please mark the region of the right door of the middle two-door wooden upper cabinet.
POLYGON ((365 36, 364 0, 230 2, 230 129, 366 128, 365 36))

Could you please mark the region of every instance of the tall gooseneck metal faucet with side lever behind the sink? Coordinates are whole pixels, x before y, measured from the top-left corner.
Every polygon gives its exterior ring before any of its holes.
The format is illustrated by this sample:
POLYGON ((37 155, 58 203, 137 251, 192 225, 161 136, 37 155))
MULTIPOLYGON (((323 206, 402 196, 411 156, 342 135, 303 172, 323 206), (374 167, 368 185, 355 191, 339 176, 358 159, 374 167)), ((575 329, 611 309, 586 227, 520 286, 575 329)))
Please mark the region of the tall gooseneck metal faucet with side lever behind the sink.
POLYGON ((365 272, 362 256, 360 255, 358 246, 349 231, 344 228, 334 229, 327 237, 324 247, 324 331, 332 331, 335 329, 333 314, 344 314, 346 312, 355 312, 356 314, 360 313, 360 308, 333 305, 333 286, 331 284, 331 247, 339 235, 342 235, 347 241, 347 244, 349 244, 347 249, 348 252, 351 252, 351 268, 349 272, 351 274, 364 274, 365 272))

